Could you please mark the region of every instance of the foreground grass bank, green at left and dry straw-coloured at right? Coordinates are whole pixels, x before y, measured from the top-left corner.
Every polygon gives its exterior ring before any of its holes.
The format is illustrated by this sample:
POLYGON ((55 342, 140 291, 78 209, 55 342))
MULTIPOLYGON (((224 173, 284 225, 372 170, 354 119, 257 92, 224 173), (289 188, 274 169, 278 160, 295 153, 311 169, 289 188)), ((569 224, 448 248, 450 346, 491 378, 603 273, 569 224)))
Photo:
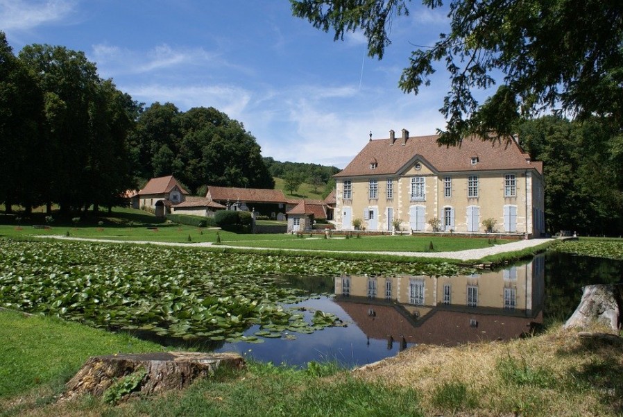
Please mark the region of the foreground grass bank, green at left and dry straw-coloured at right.
POLYGON ((0 312, 0 324, 0 337, 6 340, 1 356, 10 363, 10 376, 2 375, 3 380, 28 375, 19 389, 6 384, 0 391, 3 417, 617 416, 623 411, 623 343, 580 338, 560 327, 504 343, 418 346, 354 373, 333 364, 311 363, 297 370, 250 363, 244 371, 219 372, 186 391, 109 405, 90 396, 56 399, 89 355, 158 346, 8 312, 0 312), (27 329, 33 337, 10 337, 15 334, 11 328, 27 329), (35 352, 22 352, 24 346, 35 352))

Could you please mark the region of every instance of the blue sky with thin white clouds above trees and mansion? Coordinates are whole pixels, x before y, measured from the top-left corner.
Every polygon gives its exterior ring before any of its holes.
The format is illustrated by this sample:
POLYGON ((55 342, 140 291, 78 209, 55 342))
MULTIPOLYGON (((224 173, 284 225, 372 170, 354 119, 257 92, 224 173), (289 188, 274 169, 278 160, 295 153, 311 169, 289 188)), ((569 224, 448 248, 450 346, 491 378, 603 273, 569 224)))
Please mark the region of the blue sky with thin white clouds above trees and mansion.
POLYGON ((418 96, 398 89, 412 44, 434 44, 446 12, 416 2, 395 19, 383 60, 361 33, 291 15, 287 0, 0 0, 0 30, 27 44, 84 51, 100 76, 150 105, 212 106, 241 121, 275 160, 343 168, 389 130, 430 135, 449 85, 443 69, 418 96))

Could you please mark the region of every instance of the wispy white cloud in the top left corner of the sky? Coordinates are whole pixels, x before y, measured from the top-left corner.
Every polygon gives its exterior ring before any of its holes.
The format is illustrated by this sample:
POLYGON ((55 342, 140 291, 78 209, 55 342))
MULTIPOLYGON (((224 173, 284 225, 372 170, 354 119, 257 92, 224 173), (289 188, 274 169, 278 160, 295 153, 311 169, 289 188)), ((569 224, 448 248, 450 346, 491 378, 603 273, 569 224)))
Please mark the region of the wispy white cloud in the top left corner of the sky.
POLYGON ((59 22, 74 12, 75 0, 0 0, 0 28, 26 31, 50 22, 59 22))

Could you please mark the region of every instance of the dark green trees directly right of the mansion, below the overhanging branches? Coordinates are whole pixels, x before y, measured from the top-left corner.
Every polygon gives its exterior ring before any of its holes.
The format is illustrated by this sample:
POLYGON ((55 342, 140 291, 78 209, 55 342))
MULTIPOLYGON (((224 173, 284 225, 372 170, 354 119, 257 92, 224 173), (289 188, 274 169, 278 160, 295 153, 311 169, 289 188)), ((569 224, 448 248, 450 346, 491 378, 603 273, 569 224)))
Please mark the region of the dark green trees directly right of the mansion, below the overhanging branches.
POLYGON ((545 169, 549 232, 623 233, 623 164, 613 151, 620 134, 608 119, 543 117, 518 128, 522 145, 545 169))

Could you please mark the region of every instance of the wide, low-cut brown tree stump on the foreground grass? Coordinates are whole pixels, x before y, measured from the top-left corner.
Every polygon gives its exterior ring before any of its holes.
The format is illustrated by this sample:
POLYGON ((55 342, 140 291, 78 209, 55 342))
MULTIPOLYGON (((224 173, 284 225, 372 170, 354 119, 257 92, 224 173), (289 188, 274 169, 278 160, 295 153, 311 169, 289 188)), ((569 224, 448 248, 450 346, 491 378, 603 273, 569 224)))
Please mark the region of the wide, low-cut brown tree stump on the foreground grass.
POLYGON ((65 398, 77 394, 102 395, 114 382, 135 373, 144 376, 135 392, 150 394, 183 389, 197 379, 214 374, 216 368, 244 368, 234 353, 153 352, 95 356, 67 382, 65 398))

